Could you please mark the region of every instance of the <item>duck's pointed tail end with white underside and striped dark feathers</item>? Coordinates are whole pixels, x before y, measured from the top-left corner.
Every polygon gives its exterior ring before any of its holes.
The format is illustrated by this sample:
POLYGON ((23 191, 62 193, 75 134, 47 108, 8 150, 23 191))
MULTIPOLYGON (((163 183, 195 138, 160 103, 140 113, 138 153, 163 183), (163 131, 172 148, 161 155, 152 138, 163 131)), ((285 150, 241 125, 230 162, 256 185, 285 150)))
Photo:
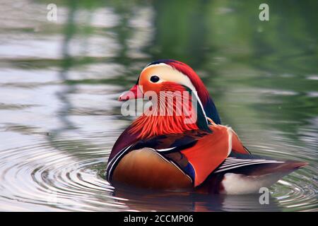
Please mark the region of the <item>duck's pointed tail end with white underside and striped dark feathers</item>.
POLYGON ((273 160, 232 151, 196 190, 221 194, 259 193, 261 187, 269 188, 281 177, 305 165, 306 162, 273 160))

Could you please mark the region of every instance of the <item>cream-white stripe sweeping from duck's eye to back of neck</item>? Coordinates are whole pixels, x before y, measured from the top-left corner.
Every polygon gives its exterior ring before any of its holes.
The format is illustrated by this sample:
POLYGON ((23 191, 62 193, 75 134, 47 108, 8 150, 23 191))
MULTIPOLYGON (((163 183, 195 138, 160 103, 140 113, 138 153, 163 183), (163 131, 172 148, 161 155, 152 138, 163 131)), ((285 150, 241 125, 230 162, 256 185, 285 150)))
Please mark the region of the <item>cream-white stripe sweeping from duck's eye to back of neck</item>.
MULTIPOLYGON (((152 64, 150 66, 146 66, 146 68, 143 69, 143 71, 145 71, 146 69, 150 69, 150 68, 154 68, 154 69, 157 68, 157 69, 154 70, 153 74, 147 75, 148 80, 151 78, 151 76, 155 75, 155 76, 158 76, 160 78, 160 81, 158 81, 158 83, 162 83, 164 81, 174 82, 174 83, 178 83, 180 85, 187 86, 190 90, 192 90, 194 95, 196 95, 196 100, 198 100, 199 105, 201 106, 201 109, 204 113, 204 117, 206 117, 206 112, 204 111, 204 107, 201 103, 201 100, 198 96, 198 93, 196 92, 196 88, 194 88, 194 85, 192 84, 192 82, 188 76, 184 75, 184 73, 181 73, 177 69, 174 69, 172 66, 170 66, 168 64, 164 64, 164 63, 152 64)), ((141 73, 143 71, 141 71, 141 73)), ((206 121, 208 122, 208 119, 206 119, 206 121)))

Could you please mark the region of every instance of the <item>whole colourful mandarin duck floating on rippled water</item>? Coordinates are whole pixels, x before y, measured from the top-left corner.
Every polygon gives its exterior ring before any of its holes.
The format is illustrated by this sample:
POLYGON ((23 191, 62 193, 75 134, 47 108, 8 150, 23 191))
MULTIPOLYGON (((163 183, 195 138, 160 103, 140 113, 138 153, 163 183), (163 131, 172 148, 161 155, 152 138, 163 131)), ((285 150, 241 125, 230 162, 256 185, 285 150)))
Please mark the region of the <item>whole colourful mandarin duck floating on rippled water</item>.
POLYGON ((220 124, 208 90, 187 64, 148 64, 119 100, 139 97, 152 105, 112 148, 107 179, 113 184, 249 194, 306 165, 251 155, 237 134, 220 124))

